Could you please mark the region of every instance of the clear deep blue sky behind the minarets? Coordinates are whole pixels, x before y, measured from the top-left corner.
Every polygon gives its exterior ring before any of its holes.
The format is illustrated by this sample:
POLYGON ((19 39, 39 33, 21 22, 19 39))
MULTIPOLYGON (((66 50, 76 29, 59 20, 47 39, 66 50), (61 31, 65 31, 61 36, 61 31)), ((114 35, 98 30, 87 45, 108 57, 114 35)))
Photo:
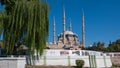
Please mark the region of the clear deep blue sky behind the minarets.
MULTIPOLYGON (((72 30, 81 41, 82 8, 85 15, 85 44, 120 39, 120 0, 46 0, 49 3, 49 37, 53 41, 53 17, 56 18, 56 34, 62 32, 62 11, 66 11, 66 28, 70 18, 72 30)), ((0 6, 0 10, 3 10, 0 6)))

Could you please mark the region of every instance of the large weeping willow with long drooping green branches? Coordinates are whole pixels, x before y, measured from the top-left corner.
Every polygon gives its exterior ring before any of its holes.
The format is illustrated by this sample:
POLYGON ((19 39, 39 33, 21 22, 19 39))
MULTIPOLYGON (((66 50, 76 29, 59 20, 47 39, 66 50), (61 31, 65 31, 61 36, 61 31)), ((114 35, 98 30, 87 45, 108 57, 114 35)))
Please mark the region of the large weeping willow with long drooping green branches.
MULTIPOLYGON (((7 54, 12 54, 15 44, 25 39, 31 55, 35 50, 42 55, 48 35, 48 5, 39 0, 6 0, 13 3, 10 13, 0 16, 0 31, 4 30, 7 54)), ((10 3, 10 4, 11 4, 10 3)))

